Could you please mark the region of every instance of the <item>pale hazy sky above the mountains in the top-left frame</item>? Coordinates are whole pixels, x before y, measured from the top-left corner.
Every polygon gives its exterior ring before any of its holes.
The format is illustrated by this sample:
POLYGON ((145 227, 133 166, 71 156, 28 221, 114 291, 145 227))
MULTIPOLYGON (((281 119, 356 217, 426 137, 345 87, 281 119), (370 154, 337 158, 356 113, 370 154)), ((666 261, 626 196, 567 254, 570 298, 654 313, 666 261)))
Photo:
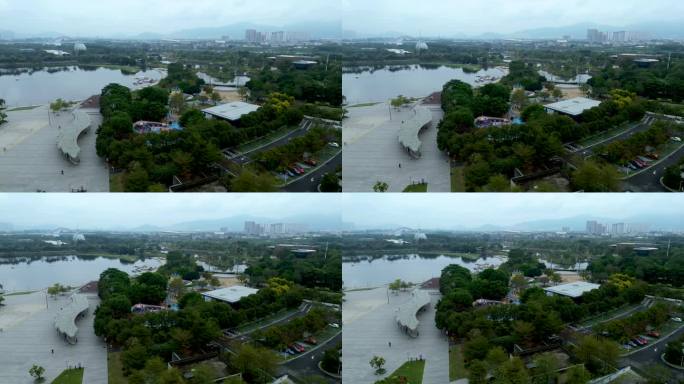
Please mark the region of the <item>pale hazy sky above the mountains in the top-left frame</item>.
POLYGON ((340 20, 339 0, 0 0, 0 29, 75 36, 340 20))

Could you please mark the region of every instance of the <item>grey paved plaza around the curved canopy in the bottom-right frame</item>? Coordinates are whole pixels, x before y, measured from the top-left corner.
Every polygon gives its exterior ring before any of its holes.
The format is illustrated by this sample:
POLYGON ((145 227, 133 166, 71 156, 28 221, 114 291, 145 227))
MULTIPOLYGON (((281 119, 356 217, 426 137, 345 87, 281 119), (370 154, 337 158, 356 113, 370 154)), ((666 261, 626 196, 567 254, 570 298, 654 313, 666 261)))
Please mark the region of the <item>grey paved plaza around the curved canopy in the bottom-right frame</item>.
POLYGON ((342 382, 372 384, 387 377, 409 358, 422 355, 425 359, 423 384, 448 383, 449 344, 435 327, 434 307, 439 301, 439 292, 430 291, 430 297, 430 307, 418 315, 420 334, 414 339, 403 333, 394 319, 397 307, 411 299, 410 292, 390 294, 389 304, 387 287, 347 292, 342 308, 342 382), (374 355, 387 361, 385 375, 376 376, 369 365, 374 355))

